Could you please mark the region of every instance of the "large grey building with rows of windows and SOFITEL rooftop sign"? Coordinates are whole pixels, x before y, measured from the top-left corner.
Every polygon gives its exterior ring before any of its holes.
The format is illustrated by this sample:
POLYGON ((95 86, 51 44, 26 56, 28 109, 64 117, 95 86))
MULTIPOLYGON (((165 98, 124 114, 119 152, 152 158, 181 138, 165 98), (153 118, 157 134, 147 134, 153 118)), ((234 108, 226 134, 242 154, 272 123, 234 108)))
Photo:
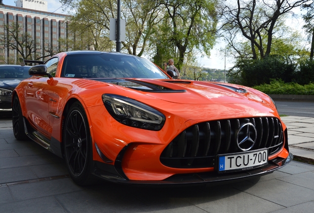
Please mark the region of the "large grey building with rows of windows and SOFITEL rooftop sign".
MULTIPOLYGON (((32 37, 32 51, 28 59, 46 60, 52 50, 60 49, 60 39, 68 38, 66 19, 69 15, 47 12, 46 0, 17 0, 17 6, 0 5, 0 37, 9 37, 9 29, 18 26, 20 35, 32 37), (39 10, 32 8, 39 8, 39 10)), ((3 41, 3 40, 2 40, 3 41)), ((64 44, 62 44, 64 45, 64 44)), ((20 47, 27 55, 29 48, 20 47)), ((65 49, 63 47, 63 49, 65 49)), ((0 64, 16 64, 20 53, 17 49, 0 44, 0 64)))

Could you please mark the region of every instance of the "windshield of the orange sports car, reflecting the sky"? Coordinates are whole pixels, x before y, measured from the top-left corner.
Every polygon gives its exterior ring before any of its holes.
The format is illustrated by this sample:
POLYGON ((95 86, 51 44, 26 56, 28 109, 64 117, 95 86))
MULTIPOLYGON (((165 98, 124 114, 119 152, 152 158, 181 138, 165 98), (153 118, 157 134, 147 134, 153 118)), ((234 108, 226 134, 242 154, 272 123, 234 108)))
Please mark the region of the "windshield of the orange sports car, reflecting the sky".
POLYGON ((62 77, 75 78, 154 78, 168 79, 152 62, 125 54, 68 55, 63 62, 62 77))

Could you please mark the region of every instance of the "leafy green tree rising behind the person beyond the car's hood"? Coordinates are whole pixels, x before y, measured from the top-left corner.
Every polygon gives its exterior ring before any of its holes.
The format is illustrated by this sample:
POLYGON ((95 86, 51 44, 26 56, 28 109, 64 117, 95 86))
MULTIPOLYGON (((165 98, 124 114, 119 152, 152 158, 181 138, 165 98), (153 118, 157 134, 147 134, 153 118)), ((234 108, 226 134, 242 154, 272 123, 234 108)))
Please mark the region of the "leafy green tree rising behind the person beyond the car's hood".
MULTIPOLYGON (((210 55, 215 43, 216 0, 158 0, 165 9, 165 17, 156 36, 157 55, 173 58, 180 70, 185 55, 193 49, 210 55), (172 57, 171 57, 172 54, 172 57)), ((160 57, 164 60, 164 57, 160 57)), ((158 62, 159 64, 160 62, 158 62)))

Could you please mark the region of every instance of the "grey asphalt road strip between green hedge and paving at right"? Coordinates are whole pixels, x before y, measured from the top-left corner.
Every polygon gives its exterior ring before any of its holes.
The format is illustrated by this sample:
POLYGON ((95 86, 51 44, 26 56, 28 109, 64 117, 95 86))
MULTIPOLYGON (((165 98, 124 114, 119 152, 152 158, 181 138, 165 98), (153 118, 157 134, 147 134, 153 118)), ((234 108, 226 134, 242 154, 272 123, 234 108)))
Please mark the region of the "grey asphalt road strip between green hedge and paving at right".
POLYGON ((280 115, 314 117, 314 102, 275 101, 280 115))

